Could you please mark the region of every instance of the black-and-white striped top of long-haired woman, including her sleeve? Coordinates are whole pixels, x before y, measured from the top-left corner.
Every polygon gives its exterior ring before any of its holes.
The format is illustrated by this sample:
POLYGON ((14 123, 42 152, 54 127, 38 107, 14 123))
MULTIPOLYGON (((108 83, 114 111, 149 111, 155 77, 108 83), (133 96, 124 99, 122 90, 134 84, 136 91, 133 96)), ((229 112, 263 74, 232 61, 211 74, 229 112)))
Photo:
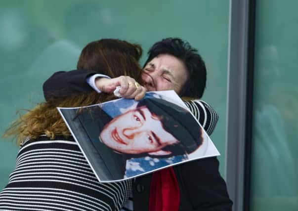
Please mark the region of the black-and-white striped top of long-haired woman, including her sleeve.
MULTIPOLYGON (((186 105, 210 134, 218 116, 205 102, 186 105)), ((0 211, 132 210, 132 180, 98 182, 74 139, 25 140, 0 193, 0 211), (124 207, 125 205, 125 207, 124 207)))

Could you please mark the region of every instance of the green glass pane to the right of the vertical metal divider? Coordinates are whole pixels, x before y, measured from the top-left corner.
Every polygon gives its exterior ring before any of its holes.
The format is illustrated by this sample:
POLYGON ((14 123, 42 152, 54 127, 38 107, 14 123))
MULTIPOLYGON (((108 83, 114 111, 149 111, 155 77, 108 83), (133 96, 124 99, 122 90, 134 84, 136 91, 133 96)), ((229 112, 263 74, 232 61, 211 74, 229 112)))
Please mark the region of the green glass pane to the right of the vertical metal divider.
POLYGON ((251 211, 298 210, 297 7, 256 1, 251 211))

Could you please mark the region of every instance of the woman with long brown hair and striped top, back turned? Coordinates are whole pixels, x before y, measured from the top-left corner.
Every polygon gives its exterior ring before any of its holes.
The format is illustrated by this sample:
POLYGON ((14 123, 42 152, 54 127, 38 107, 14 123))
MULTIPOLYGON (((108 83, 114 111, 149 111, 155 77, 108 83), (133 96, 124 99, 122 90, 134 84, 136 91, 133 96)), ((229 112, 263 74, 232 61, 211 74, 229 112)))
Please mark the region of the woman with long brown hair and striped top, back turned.
MULTIPOLYGON (((136 95, 145 93, 138 44, 104 39, 87 44, 78 69, 110 77, 132 76, 136 95)), ((67 80, 67 79, 66 79, 67 80)), ((0 193, 0 210, 120 210, 131 194, 131 180, 100 183, 56 107, 85 106, 114 95, 90 91, 38 104, 14 122, 4 136, 16 136, 20 150, 15 170, 0 193)))

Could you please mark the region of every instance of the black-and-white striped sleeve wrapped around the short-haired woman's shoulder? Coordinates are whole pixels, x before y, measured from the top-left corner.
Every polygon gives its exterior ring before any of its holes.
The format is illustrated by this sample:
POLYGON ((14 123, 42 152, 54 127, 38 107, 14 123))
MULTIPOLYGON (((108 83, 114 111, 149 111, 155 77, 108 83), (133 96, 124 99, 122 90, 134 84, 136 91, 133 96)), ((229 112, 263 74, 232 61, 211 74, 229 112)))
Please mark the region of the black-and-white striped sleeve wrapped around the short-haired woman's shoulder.
POLYGON ((218 120, 218 115, 213 108, 203 100, 191 100, 185 101, 184 103, 205 129, 207 134, 211 135, 218 120))

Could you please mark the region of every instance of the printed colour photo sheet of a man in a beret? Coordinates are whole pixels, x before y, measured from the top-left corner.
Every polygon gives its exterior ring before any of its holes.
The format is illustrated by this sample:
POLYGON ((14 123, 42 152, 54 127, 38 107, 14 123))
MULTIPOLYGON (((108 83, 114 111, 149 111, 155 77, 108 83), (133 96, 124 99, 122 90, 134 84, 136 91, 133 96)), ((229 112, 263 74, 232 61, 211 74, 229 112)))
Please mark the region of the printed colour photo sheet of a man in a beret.
POLYGON ((174 91, 58 110, 101 182, 219 155, 174 91))

